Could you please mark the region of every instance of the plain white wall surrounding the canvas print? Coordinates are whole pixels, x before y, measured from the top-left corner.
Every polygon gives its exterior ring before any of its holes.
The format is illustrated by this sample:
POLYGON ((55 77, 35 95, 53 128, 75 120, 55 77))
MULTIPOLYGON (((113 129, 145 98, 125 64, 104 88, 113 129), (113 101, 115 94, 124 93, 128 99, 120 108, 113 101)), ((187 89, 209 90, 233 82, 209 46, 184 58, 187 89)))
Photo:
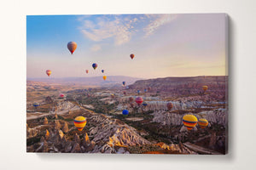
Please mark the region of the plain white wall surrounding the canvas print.
POLYGON ((0 3, 0 169, 255 169, 254 0, 10 0, 0 3), (26 153, 26 14, 230 15, 230 152, 226 156, 26 153))

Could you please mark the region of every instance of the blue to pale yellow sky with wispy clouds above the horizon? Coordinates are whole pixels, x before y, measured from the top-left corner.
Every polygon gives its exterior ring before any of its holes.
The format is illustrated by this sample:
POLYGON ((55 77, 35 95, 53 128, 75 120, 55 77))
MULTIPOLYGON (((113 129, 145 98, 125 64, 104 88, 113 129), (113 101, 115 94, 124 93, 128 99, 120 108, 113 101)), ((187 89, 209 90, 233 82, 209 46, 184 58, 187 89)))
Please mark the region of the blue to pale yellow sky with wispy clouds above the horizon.
POLYGON ((225 14, 27 15, 26 76, 224 76, 225 43, 225 14))

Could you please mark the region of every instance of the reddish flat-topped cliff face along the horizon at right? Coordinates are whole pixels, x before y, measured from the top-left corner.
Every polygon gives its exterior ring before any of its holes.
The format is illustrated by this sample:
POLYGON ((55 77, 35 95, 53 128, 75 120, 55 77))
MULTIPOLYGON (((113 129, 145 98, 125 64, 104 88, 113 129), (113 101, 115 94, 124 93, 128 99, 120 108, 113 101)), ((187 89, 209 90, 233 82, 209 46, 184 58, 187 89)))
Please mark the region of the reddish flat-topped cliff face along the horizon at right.
POLYGON ((224 100, 227 90, 228 77, 166 77, 149 80, 140 80, 129 88, 143 90, 150 87, 149 93, 169 94, 172 97, 203 94, 202 86, 207 85, 207 93, 216 99, 224 100))

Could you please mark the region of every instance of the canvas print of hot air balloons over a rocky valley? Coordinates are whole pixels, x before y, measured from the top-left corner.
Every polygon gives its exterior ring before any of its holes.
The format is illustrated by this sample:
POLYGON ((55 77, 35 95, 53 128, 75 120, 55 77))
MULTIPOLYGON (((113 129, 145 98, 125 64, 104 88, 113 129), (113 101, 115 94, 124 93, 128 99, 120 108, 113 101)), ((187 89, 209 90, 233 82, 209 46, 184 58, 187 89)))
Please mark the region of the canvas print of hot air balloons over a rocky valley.
POLYGON ((26 16, 26 151, 224 155, 226 14, 26 16))

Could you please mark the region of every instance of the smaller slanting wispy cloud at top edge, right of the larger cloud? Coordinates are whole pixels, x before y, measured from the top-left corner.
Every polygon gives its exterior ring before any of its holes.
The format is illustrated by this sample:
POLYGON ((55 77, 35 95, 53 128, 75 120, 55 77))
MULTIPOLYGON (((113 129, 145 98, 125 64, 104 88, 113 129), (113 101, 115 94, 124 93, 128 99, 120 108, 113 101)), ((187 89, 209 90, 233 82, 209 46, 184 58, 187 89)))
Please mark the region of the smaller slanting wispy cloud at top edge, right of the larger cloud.
POLYGON ((146 32, 145 37, 152 35, 160 26, 166 25, 177 18, 177 14, 146 14, 146 16, 152 21, 143 29, 146 32))

